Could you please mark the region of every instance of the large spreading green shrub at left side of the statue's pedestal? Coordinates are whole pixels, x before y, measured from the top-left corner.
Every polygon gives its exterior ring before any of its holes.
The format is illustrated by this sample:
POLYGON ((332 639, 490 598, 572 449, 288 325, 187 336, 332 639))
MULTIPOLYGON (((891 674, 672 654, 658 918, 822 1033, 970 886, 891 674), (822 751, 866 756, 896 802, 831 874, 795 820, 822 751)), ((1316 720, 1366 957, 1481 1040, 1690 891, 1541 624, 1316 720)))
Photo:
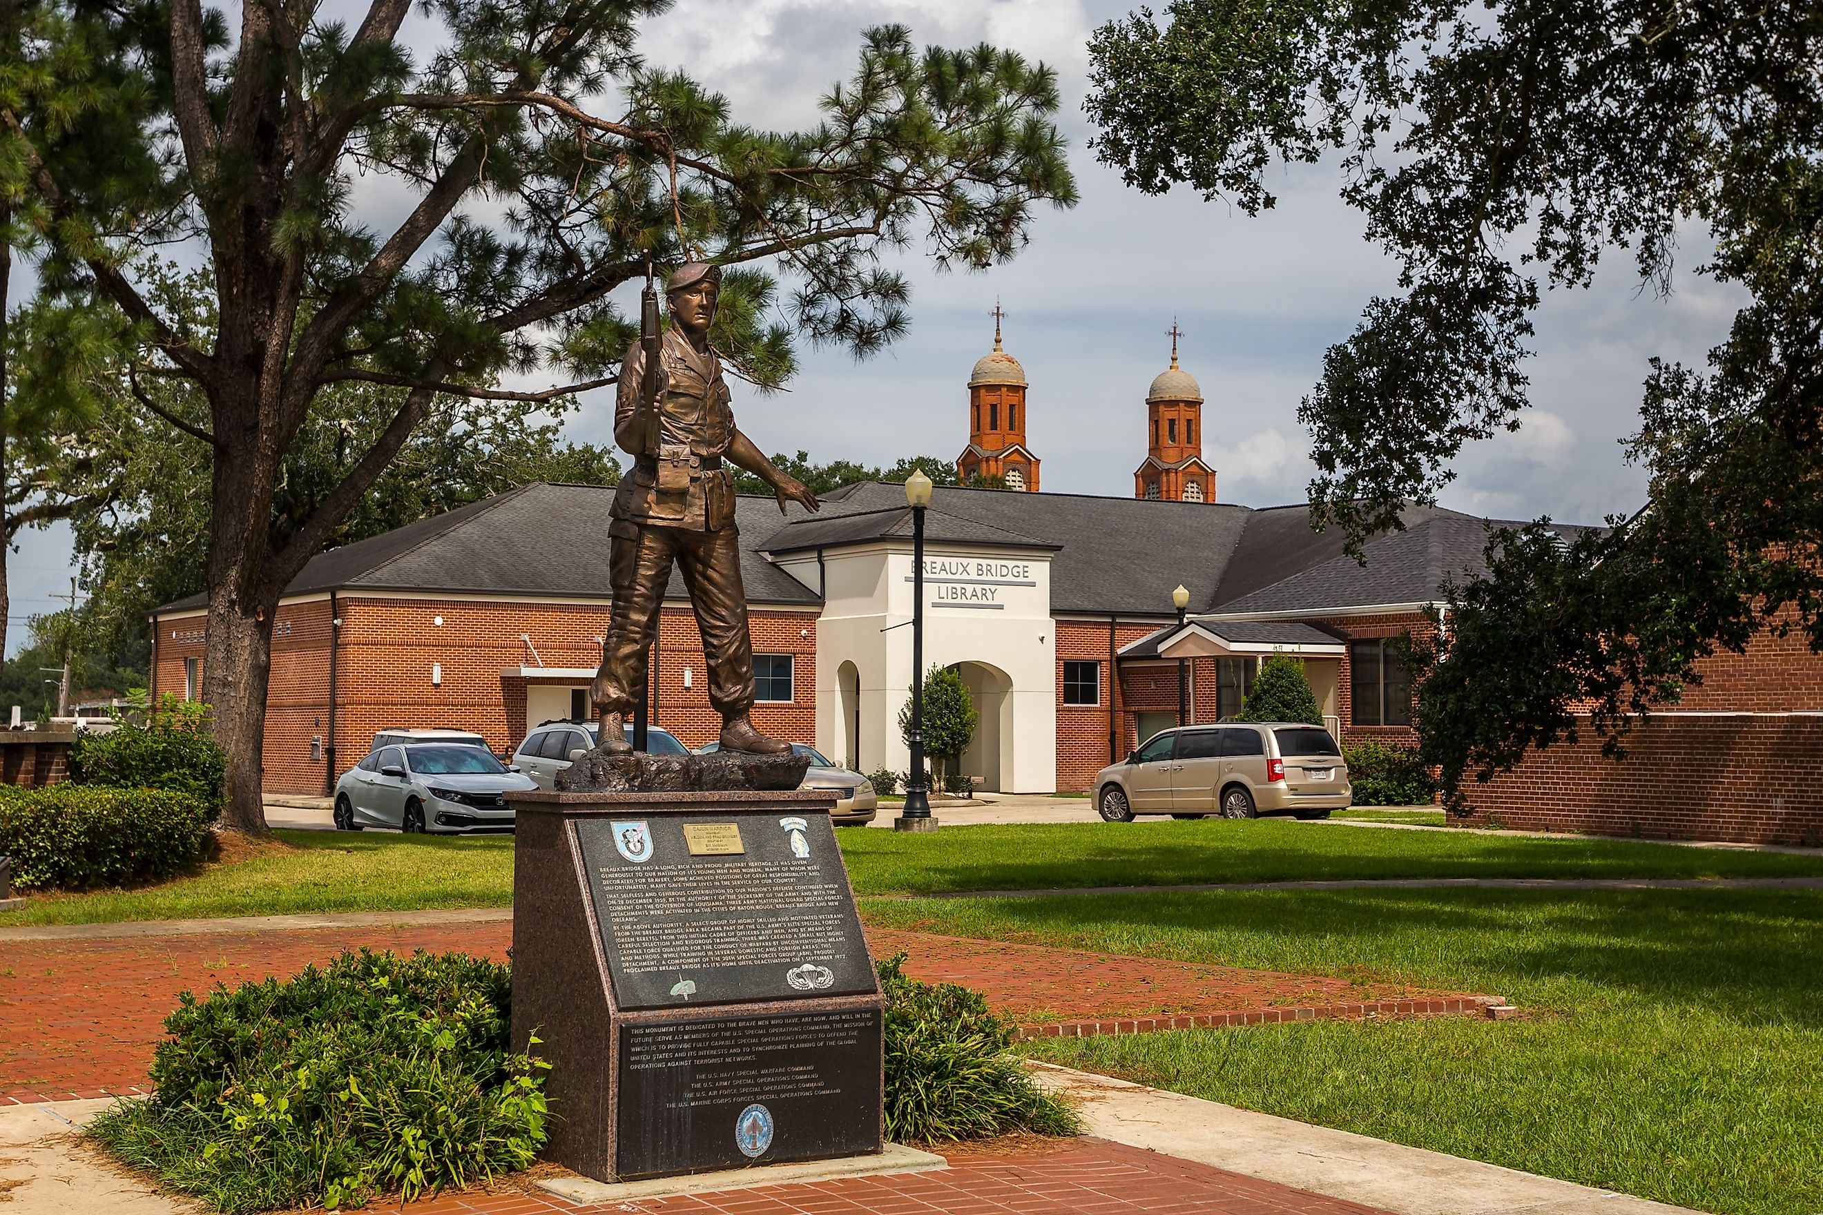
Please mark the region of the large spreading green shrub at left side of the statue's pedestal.
POLYGON ((153 1097, 91 1133, 221 1211, 410 1200, 532 1164, 547 1064, 512 1055, 510 973, 459 953, 343 953, 184 993, 153 1097))

